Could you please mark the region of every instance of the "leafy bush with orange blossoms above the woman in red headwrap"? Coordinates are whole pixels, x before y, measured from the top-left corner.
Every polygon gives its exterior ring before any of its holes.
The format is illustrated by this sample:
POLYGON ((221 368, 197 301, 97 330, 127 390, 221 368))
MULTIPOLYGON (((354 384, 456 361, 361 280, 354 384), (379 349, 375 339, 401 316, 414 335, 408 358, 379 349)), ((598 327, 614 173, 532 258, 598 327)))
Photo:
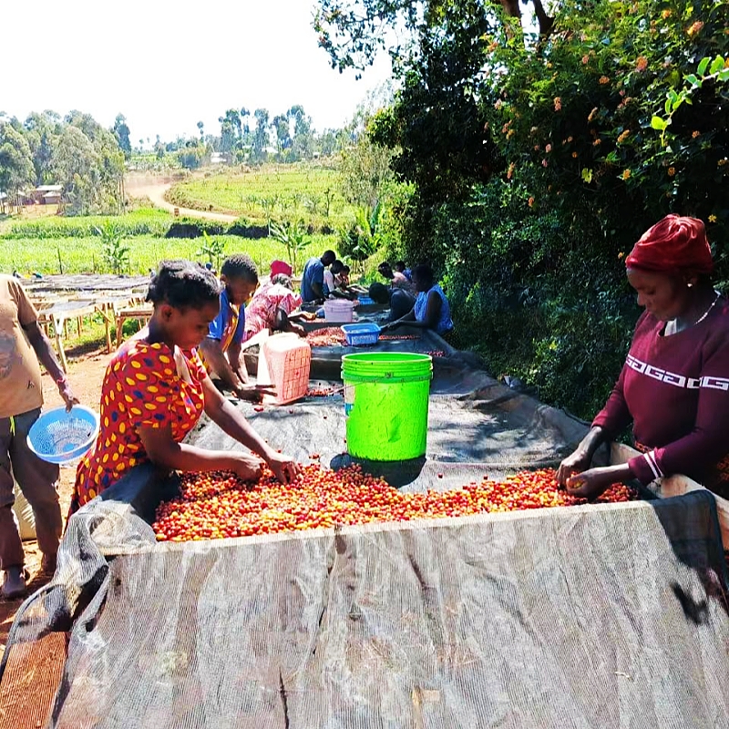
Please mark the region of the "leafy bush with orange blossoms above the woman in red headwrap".
POLYGON ((667 212, 708 221, 729 244, 729 5, 708 0, 590 16, 565 4, 539 54, 495 38, 491 63, 509 69, 494 128, 534 209, 588 222, 612 255, 667 212), (702 60, 705 58, 705 60, 702 60))

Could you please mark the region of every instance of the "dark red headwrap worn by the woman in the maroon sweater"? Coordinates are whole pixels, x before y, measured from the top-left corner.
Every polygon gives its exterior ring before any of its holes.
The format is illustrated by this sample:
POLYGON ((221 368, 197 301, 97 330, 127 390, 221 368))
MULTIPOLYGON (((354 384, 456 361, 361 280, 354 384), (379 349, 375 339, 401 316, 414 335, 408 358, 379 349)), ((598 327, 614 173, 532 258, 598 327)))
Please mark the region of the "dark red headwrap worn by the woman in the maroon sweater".
POLYGON ((681 215, 666 215, 645 231, 625 259, 625 265, 666 273, 711 273, 714 270, 703 222, 681 215))

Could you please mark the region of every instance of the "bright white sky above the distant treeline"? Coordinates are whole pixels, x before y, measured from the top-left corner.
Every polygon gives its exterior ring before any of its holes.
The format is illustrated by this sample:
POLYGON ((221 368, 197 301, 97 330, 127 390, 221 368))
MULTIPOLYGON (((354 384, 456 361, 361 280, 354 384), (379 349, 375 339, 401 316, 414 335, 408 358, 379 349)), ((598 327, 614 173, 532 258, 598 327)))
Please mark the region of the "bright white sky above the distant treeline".
POLYGON ((122 113, 134 146, 197 136, 198 121, 219 134, 228 108, 273 118, 301 104, 318 131, 339 128, 390 76, 384 54, 359 81, 334 70, 317 45, 313 0, 3 5, 0 112, 78 109, 105 127, 122 113))

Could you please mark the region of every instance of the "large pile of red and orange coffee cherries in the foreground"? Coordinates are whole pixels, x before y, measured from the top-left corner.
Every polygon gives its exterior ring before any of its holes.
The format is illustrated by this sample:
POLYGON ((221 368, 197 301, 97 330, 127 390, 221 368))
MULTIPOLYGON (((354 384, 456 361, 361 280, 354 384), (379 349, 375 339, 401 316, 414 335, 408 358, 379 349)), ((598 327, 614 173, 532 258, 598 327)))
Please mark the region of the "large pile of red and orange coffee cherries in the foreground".
MULTIPOLYGON (((289 485, 265 467, 254 483, 228 472, 186 474, 180 496, 159 505, 152 526, 159 540, 189 541, 585 503, 558 488, 555 477, 553 469, 524 471, 503 481, 484 476, 463 488, 402 493, 357 465, 338 471, 303 466, 289 485)), ((597 500, 635 498, 635 489, 613 484, 597 500)))

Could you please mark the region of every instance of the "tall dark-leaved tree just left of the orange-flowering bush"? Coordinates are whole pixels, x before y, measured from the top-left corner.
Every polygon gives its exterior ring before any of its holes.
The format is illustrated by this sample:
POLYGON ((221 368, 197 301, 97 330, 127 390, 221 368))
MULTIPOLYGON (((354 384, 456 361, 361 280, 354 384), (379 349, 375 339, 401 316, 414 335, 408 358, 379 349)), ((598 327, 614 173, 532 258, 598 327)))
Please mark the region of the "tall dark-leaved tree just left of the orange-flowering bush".
POLYGON ((375 142, 399 149, 393 167, 401 180, 416 184, 424 206, 463 199, 502 164, 483 70, 498 18, 471 0, 450 5, 438 26, 421 29, 395 104, 370 125, 375 142))

